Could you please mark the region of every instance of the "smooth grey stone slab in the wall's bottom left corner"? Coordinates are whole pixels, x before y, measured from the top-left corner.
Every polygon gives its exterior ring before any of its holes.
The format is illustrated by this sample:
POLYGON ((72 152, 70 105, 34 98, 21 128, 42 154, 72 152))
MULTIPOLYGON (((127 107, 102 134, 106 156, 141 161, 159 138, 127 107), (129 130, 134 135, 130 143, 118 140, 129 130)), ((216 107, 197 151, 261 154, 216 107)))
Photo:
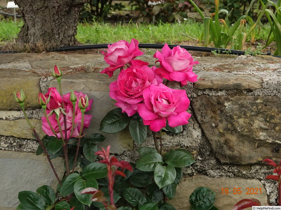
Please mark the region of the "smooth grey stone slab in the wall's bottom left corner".
MULTIPOLYGON (((64 174, 63 159, 52 160, 58 176, 64 174)), ((57 179, 44 155, 0 150, 0 209, 15 210, 20 191, 36 192, 49 185, 56 190, 57 179)))

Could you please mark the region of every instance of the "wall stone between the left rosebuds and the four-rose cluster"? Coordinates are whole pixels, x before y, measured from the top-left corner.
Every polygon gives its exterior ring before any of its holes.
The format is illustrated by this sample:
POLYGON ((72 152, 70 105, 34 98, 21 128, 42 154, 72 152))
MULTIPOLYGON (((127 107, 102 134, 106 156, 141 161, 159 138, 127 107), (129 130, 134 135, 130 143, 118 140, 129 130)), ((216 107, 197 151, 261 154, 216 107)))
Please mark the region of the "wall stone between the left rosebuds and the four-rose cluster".
MULTIPOLYGON (((92 115, 90 127, 85 130, 86 137, 93 133, 101 133, 106 140, 100 146, 106 148, 111 145, 111 153, 121 154, 124 151, 133 149, 133 139, 129 131, 122 131, 116 134, 107 134, 98 131, 102 118, 112 109, 115 101, 109 97, 109 84, 116 80, 114 75, 109 78, 106 74, 100 73, 80 73, 75 75, 64 75, 61 80, 63 94, 73 91, 83 92, 93 99, 92 109, 86 114, 92 115)), ((52 80, 49 87, 58 88, 56 80, 52 80)))

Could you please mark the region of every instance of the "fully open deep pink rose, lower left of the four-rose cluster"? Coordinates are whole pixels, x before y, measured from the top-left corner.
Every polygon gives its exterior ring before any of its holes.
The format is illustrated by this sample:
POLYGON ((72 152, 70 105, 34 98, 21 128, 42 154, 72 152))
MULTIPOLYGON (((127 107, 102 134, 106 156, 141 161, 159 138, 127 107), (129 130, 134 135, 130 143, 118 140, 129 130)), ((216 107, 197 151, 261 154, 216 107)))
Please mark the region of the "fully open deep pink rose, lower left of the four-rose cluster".
POLYGON ((138 104, 143 102, 144 90, 151 84, 158 85, 163 82, 163 79, 154 73, 155 68, 131 66, 120 72, 117 81, 110 83, 109 96, 117 101, 115 105, 120 107, 123 113, 134 115, 138 104))

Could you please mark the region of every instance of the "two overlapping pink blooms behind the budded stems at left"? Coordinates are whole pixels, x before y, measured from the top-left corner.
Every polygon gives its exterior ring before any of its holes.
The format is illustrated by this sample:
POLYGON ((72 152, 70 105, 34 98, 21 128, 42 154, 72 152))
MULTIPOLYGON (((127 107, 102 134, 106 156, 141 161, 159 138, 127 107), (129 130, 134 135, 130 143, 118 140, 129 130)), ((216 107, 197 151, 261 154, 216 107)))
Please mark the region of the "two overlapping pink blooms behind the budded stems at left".
MULTIPOLYGON (((60 112, 60 114, 59 114, 59 122, 60 122, 63 137, 65 137, 65 132, 66 132, 67 139, 70 139, 72 137, 78 137, 80 128, 81 128, 82 113, 81 113, 81 110, 78 108, 78 101, 79 101, 78 99, 81 96, 85 97, 85 94, 82 92, 78 93, 76 91, 74 91, 74 93, 77 96, 74 116, 73 116, 73 104, 70 101, 70 93, 67 93, 67 94, 63 95, 63 97, 61 97, 60 93, 56 90, 56 88, 49 88, 48 93, 45 94, 46 98, 48 98, 50 96, 50 102, 47 103, 47 108, 46 108, 47 114, 50 114, 50 112, 52 112, 53 109, 62 108, 62 103, 64 105, 64 108, 65 108, 64 112, 66 113, 66 130, 65 130, 65 126, 64 126, 64 117, 63 117, 64 114, 62 112, 60 112), (74 130, 73 130, 72 135, 70 136, 73 117, 74 117, 74 130)), ((88 111, 91 109, 92 103, 93 103, 93 99, 89 100, 89 106, 86 108, 85 111, 88 111)), ((52 113, 48 118, 50 120, 51 126, 53 127, 54 131, 56 132, 57 137, 61 138, 58 123, 56 120, 56 114, 52 113)), ((87 115, 87 114, 84 115, 82 132, 85 128, 89 127, 91 118, 92 118, 92 115, 87 115)), ((52 130, 47 122, 46 117, 42 117, 42 129, 48 136, 55 136, 55 134, 52 132, 52 130)))

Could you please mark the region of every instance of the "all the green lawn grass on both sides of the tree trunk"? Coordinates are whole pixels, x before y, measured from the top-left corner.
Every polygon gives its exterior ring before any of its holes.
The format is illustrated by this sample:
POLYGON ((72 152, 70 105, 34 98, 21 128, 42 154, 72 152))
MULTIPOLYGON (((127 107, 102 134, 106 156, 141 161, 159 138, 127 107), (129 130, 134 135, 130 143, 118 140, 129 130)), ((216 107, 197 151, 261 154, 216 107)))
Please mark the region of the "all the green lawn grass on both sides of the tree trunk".
MULTIPOLYGON (((17 22, 14 22, 13 19, 2 20, 0 23, 0 44, 13 41, 22 25, 23 21, 20 19, 17 22)), ((257 40, 267 39, 270 26, 264 25, 263 27, 263 29, 260 28, 259 34, 258 27, 256 27, 257 40)), ((249 27, 246 30, 248 29, 249 27)), ((179 44, 190 40, 183 34, 199 39, 202 31, 203 24, 193 20, 183 21, 180 24, 159 23, 158 25, 92 22, 79 23, 76 38, 82 44, 114 43, 121 39, 130 42, 132 38, 137 39, 140 43, 179 44)))

